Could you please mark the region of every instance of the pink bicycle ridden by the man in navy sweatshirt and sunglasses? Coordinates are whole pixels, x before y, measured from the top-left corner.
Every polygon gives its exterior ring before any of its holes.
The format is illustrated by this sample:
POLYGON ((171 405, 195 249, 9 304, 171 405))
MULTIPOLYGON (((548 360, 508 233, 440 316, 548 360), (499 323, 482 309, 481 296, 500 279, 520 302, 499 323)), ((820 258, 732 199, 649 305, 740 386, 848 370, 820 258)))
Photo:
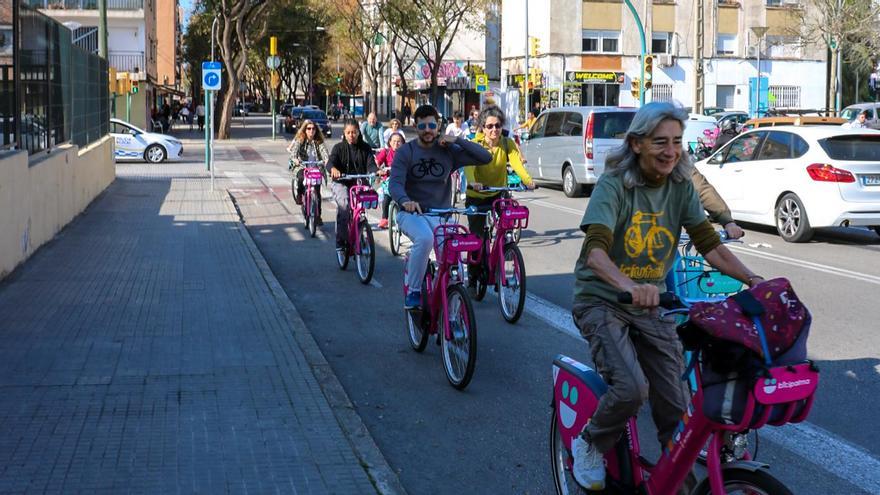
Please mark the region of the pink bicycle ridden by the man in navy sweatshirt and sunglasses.
MULTIPOLYGON (((424 215, 448 217, 475 210, 449 208, 429 210, 424 215)), ((441 223, 434 229, 436 262, 428 261, 422 282, 422 304, 406 310, 409 343, 416 352, 425 350, 429 335, 437 335, 443 369, 449 383, 463 390, 474 375, 477 361, 477 320, 467 291, 462 286, 463 258, 480 249, 479 237, 458 223, 441 223)), ((409 261, 409 254, 406 255, 409 261)), ((406 275, 404 274, 404 280, 406 275)), ((404 294, 409 288, 404 285, 404 294)))

